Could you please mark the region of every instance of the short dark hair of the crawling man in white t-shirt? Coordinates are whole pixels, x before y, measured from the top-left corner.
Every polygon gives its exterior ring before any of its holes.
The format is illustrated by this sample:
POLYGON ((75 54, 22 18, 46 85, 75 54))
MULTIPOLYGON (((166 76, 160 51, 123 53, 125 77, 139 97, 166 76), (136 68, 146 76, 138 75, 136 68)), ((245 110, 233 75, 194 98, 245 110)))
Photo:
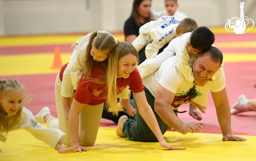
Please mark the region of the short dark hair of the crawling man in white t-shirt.
POLYGON ((210 54, 210 60, 212 60, 215 63, 221 63, 223 61, 223 54, 220 49, 214 46, 210 46, 201 52, 198 53, 198 57, 202 57, 204 54, 209 53, 210 54))

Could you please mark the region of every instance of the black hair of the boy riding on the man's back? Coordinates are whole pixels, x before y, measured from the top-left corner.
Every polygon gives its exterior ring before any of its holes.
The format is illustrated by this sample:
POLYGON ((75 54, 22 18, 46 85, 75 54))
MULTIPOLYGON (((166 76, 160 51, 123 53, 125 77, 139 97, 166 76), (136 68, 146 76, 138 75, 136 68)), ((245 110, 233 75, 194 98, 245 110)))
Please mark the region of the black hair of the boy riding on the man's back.
POLYGON ((198 27, 190 36, 190 45, 194 49, 204 50, 210 47, 215 40, 214 33, 207 27, 198 27))

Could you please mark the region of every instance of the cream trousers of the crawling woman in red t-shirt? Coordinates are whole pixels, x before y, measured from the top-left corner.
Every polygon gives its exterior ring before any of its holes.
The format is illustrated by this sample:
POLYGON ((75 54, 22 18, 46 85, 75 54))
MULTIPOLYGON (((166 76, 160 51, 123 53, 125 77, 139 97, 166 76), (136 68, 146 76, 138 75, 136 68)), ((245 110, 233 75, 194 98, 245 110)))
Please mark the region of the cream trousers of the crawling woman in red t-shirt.
MULTIPOLYGON (((61 80, 59 79, 59 74, 57 75, 55 81, 55 101, 57 107, 58 118, 51 117, 47 121, 47 126, 49 128, 60 129, 64 132, 67 137, 65 138, 63 144, 66 146, 71 146, 71 138, 69 132, 69 121, 65 118, 62 96, 61 96, 61 80)), ((70 98, 70 105, 73 101, 73 97, 70 98)), ((93 146, 96 141, 96 136, 98 133, 98 128, 100 124, 100 119, 102 115, 103 105, 91 106, 85 104, 81 113, 79 115, 79 142, 81 146, 93 146)))

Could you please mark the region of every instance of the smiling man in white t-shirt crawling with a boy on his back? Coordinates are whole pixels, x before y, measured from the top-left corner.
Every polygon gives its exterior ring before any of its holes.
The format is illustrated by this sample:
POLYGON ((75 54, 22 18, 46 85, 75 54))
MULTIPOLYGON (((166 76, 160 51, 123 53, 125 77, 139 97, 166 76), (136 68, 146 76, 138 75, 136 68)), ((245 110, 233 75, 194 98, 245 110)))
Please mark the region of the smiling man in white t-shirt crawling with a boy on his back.
MULTIPOLYGON (((194 77, 199 81, 212 78, 221 67, 222 62, 222 52, 213 46, 194 54, 194 57, 190 59, 194 77)), ((177 70, 174 56, 164 61, 156 72, 145 77, 142 81, 145 86, 144 91, 147 101, 154 109, 162 134, 167 131, 169 126, 182 134, 201 132, 203 127, 199 123, 190 122, 184 124, 175 115, 174 111, 177 112, 181 104, 188 103, 192 99, 193 102, 205 106, 207 103, 207 91, 211 91, 223 134, 223 141, 246 140, 231 134, 230 108, 225 89, 224 72, 204 86, 195 86, 193 82, 187 81, 177 70)), ((134 100, 134 104, 135 108, 137 108, 136 100, 134 100)), ((130 140, 157 142, 153 132, 140 116, 139 110, 137 110, 134 119, 127 119, 127 116, 122 116, 119 119, 117 128, 122 128, 124 137, 130 140)))

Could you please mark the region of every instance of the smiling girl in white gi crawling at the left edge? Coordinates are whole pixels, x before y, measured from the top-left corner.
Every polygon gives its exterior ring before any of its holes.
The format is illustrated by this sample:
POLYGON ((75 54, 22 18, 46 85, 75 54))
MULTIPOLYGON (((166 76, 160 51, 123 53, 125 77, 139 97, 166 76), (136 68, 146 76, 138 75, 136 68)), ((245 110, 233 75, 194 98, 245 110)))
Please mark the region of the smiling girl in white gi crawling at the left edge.
POLYGON ((5 135, 10 131, 25 129, 59 153, 74 152, 77 147, 62 147, 66 134, 35 121, 32 112, 23 106, 24 97, 24 86, 18 80, 0 80, 0 141, 5 142, 5 135))

